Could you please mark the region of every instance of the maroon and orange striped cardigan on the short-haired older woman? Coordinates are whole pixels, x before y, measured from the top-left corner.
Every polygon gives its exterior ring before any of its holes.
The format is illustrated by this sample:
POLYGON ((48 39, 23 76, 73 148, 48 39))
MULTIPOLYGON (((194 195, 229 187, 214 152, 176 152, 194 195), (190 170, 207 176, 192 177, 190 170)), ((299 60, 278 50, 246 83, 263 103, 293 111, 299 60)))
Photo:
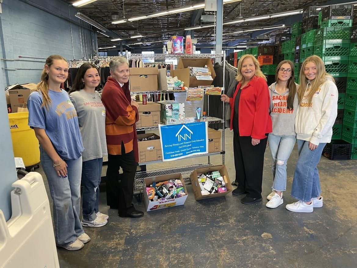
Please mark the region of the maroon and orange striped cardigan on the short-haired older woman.
POLYGON ((102 102, 106 109, 105 134, 108 153, 121 154, 121 143, 125 153, 134 150, 135 161, 139 162, 135 123, 139 120, 139 113, 135 106, 131 106, 129 83, 123 88, 119 83, 108 77, 102 93, 102 102))

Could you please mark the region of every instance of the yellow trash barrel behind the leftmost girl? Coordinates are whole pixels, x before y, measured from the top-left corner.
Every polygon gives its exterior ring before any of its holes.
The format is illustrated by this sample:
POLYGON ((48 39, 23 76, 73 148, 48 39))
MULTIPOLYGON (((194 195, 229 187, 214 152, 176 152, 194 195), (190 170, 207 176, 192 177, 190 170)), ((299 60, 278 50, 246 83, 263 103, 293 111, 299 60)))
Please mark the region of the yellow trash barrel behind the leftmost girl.
POLYGON ((10 113, 9 122, 14 156, 21 157, 25 167, 40 163, 39 141, 28 125, 29 112, 10 113))

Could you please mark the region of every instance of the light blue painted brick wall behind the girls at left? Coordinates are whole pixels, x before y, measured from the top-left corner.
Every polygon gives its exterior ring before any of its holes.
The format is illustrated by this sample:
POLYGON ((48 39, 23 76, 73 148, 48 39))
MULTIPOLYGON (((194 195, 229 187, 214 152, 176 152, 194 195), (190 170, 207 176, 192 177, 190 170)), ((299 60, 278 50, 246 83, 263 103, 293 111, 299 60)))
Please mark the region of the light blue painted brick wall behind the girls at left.
MULTIPOLYGON (((68 4, 61 0, 31 0, 51 11, 69 18, 68 4)), ((70 8, 71 19, 76 18, 76 10, 70 8)), ((19 56, 46 58, 52 54, 59 54, 67 60, 73 59, 70 23, 55 15, 42 11, 20 0, 4 0, 2 3, 1 26, 3 40, 1 57, 6 59, 19 59, 19 56), (5 52, 5 53, 4 53, 5 52)), ((85 26, 90 26, 84 23, 85 26)), ((73 48, 75 59, 91 58, 94 54, 93 46, 97 50, 96 31, 85 28, 86 45, 80 41, 80 27, 72 25, 73 48), (93 38, 95 44, 93 45, 93 38), (82 50, 81 50, 82 47, 82 50), (87 49, 86 49, 87 47, 87 49)), ((1 34, 1 32, 0 32, 1 34)), ((38 83, 44 59, 41 62, 5 61, 1 60, 1 67, 17 70, 4 70, 3 78, 6 85, 15 83, 38 83), (21 70, 29 68, 32 70, 21 70)))

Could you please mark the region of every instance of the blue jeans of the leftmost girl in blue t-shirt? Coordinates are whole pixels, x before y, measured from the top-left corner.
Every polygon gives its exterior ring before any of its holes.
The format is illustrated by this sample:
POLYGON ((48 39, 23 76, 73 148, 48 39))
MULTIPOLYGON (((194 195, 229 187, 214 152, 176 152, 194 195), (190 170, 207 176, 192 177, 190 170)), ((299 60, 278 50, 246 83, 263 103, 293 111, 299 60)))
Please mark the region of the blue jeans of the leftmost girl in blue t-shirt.
POLYGON ((60 246, 69 245, 84 233, 79 219, 81 207, 82 157, 66 160, 67 178, 58 177, 53 161, 40 146, 41 165, 44 170, 53 200, 55 240, 60 246))

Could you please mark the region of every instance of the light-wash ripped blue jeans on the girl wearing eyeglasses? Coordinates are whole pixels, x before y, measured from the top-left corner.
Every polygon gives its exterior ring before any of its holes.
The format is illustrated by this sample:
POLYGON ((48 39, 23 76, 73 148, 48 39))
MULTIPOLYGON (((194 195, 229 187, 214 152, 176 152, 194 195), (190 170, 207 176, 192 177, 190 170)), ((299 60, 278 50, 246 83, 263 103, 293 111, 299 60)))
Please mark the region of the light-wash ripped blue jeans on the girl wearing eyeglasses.
POLYGON ((273 190, 286 190, 286 164, 294 148, 295 136, 276 136, 271 133, 268 135, 269 148, 273 159, 273 190))

